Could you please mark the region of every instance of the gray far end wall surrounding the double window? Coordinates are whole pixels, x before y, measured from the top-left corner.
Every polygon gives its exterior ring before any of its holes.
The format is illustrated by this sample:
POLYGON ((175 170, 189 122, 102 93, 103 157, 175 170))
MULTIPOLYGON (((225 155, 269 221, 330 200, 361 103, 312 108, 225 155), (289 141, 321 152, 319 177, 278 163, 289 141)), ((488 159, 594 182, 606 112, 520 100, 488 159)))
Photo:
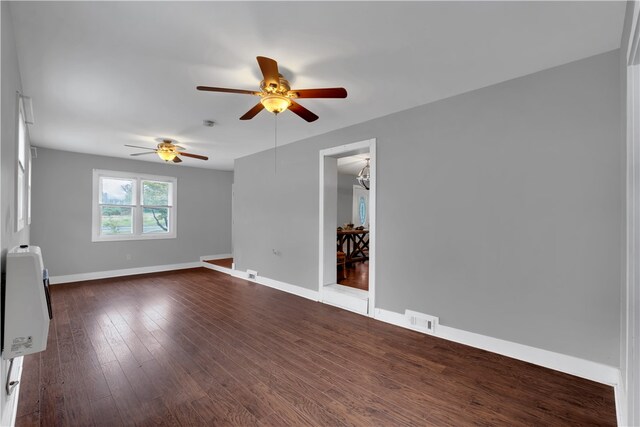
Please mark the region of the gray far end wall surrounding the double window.
POLYGON ((199 261, 231 253, 233 172, 38 148, 31 240, 51 276, 199 261), (93 169, 178 179, 178 237, 91 242, 93 169), (131 260, 126 255, 131 255, 131 260))

